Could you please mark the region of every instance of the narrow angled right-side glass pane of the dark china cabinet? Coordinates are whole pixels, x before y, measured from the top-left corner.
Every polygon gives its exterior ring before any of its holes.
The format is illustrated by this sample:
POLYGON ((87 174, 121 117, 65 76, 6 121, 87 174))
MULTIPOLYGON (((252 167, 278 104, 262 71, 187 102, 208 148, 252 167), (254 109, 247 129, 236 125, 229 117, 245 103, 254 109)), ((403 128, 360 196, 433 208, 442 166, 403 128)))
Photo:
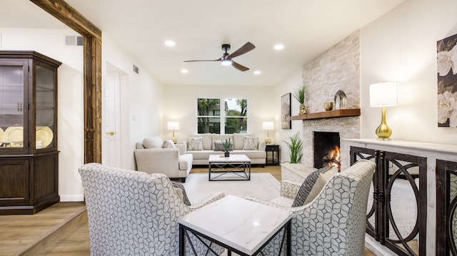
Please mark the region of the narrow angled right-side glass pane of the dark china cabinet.
POLYGON ((35 147, 54 148, 55 123, 55 81, 53 70, 36 65, 36 133, 35 147))

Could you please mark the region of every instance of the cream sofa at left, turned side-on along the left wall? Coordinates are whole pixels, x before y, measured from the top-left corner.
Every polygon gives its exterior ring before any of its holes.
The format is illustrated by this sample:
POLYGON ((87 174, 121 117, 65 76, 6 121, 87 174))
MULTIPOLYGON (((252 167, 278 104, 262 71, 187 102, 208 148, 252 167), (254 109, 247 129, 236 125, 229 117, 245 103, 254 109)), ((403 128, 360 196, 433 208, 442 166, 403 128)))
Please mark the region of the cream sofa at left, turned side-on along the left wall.
POLYGON ((182 182, 191 173, 193 162, 192 154, 186 153, 185 143, 164 142, 159 136, 136 143, 135 160, 141 172, 163 173, 168 178, 181 178, 182 182))

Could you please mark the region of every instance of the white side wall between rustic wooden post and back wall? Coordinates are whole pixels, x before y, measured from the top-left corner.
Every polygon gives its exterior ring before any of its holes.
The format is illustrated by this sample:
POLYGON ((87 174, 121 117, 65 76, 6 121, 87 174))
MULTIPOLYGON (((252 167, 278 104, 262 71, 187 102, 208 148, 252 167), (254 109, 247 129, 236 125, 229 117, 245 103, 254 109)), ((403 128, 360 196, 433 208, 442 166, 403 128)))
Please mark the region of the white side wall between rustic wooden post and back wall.
MULTIPOLYGON (((159 134, 161 127, 163 86, 146 67, 129 56, 111 40, 102 36, 103 73, 115 71, 121 74, 121 168, 135 170, 135 143, 159 134), (133 65, 139 67, 134 73, 133 65)), ((103 76, 102 76, 103 77, 103 76)), ((103 81, 105 85, 106 81, 103 81)))

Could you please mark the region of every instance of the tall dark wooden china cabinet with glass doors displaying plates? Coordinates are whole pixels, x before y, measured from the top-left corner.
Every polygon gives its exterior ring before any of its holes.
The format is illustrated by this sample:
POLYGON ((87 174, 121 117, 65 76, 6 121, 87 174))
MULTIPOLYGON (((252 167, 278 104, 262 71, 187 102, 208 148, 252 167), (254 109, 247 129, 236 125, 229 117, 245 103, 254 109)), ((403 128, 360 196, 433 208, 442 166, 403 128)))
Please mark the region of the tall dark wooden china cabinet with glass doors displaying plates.
POLYGON ((0 51, 0 215, 59 202, 57 68, 35 51, 0 51))

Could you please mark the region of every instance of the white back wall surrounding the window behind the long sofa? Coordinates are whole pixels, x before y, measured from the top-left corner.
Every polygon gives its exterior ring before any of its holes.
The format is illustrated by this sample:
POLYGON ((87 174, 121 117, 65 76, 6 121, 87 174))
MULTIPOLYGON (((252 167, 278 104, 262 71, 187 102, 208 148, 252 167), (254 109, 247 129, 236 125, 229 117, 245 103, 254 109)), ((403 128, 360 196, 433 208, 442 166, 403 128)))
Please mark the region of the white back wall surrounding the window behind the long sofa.
MULTIPOLYGON (((266 138, 262 130, 263 121, 274 121, 276 98, 273 86, 164 86, 164 116, 161 121, 162 138, 171 138, 171 130, 166 130, 168 121, 179 121, 180 130, 175 132, 178 141, 185 141, 191 133, 197 133, 197 98, 247 98, 248 133, 255 133, 260 140, 266 138)), ((270 132, 273 142, 276 142, 270 132)))

